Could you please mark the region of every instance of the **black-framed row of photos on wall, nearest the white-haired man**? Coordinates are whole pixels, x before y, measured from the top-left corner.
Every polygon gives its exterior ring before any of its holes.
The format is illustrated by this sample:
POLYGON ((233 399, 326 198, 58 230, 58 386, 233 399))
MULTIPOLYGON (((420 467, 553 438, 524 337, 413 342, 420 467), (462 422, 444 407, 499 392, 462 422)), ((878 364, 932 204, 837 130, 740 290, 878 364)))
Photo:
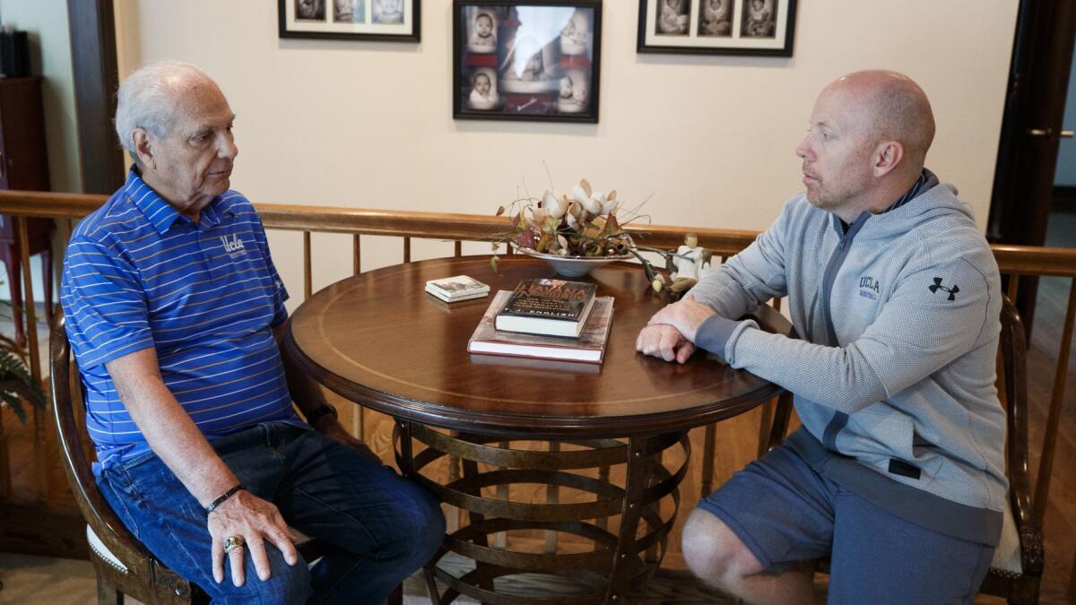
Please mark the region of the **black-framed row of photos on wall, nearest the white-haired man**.
POLYGON ((419 42, 421 0, 278 0, 280 38, 419 42))

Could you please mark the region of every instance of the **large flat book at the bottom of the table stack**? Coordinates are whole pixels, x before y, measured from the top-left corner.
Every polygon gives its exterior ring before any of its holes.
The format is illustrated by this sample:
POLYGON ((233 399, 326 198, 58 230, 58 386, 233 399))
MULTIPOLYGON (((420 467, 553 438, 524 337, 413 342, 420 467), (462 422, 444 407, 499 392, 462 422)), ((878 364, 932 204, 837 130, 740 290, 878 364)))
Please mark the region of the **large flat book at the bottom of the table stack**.
POLYGON ((475 334, 467 341, 469 353, 487 355, 506 355, 509 357, 530 357, 538 360, 564 360, 569 362, 585 362, 600 364, 605 356, 605 346, 609 340, 609 327, 612 325, 611 296, 595 298, 593 311, 579 338, 561 338, 556 336, 539 336, 536 334, 518 334, 502 332, 495 327, 495 318, 512 293, 501 290, 493 298, 485 315, 475 328, 475 334))

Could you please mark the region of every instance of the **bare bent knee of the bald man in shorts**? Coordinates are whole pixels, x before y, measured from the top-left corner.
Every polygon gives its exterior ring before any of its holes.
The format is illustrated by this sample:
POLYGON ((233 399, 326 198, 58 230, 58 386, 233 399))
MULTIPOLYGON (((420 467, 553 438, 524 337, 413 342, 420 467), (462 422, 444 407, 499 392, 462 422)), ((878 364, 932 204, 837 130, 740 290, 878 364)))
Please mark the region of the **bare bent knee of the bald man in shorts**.
POLYGON ((700 508, 693 510, 683 525, 681 550, 691 571, 712 585, 727 587, 762 572, 762 564, 739 537, 700 508))

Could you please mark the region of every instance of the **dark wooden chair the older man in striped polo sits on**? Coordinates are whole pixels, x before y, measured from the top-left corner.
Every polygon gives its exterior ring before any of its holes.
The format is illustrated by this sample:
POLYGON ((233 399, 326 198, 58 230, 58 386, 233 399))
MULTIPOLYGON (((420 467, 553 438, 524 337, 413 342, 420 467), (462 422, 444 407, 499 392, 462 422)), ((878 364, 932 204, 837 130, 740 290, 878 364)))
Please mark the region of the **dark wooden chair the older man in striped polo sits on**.
MULTIPOLYGON (((169 569, 131 535, 98 491, 86 456, 88 441, 85 431, 76 420, 83 409, 82 380, 71 360, 71 346, 63 328, 63 316, 59 313, 53 324, 48 352, 60 461, 86 519, 89 560, 97 572, 97 602, 100 605, 123 605, 124 595, 129 594, 146 605, 209 603, 204 591, 169 569), (73 391, 72 383, 80 388, 73 391), (75 392, 77 398, 73 396, 75 392)), ((297 548, 303 559, 313 563, 324 553, 325 545, 307 539, 301 540, 297 548)), ((400 596, 394 594, 394 599, 400 596)))

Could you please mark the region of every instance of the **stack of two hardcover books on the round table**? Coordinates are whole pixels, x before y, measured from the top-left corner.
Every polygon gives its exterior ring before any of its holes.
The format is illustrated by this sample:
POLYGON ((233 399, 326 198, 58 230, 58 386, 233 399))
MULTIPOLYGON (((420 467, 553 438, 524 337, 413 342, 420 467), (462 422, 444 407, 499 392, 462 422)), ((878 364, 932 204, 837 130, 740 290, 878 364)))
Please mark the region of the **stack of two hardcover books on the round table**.
POLYGON ((592 283, 525 280, 490 304, 467 351, 600 364, 612 324, 610 296, 592 283))

